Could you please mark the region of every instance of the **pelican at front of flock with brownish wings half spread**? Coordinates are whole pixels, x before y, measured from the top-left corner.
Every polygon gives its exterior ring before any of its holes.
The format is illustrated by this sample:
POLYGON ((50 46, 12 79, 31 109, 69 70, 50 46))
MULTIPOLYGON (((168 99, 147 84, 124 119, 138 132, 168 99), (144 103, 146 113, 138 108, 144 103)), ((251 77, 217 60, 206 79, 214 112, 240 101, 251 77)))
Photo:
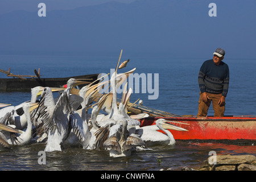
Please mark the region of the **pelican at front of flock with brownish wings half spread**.
POLYGON ((103 146, 110 148, 110 156, 119 157, 119 156, 130 156, 131 148, 137 146, 144 146, 144 142, 137 135, 129 135, 127 130, 127 120, 123 119, 121 124, 114 125, 112 129, 118 130, 122 128, 121 138, 118 138, 118 135, 110 136, 105 140, 103 146), (128 136, 128 137, 127 137, 128 136))

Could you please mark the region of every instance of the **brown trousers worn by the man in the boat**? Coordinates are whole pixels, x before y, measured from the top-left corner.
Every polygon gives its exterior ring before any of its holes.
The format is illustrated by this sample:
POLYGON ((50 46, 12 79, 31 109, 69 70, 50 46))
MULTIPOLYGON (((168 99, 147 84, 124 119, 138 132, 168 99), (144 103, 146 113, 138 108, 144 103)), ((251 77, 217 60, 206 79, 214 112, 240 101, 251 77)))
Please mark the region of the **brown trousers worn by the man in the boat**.
POLYGON ((199 98, 199 106, 198 106, 198 114, 197 117, 205 117, 207 116, 208 109, 210 106, 210 102, 212 102, 212 107, 214 110, 214 117, 224 117, 225 112, 225 104, 224 106, 220 106, 218 104, 218 101, 220 101, 220 98, 222 94, 211 94, 207 93, 207 96, 209 97, 208 102, 205 103, 202 100, 201 92, 200 92, 200 98, 199 98))

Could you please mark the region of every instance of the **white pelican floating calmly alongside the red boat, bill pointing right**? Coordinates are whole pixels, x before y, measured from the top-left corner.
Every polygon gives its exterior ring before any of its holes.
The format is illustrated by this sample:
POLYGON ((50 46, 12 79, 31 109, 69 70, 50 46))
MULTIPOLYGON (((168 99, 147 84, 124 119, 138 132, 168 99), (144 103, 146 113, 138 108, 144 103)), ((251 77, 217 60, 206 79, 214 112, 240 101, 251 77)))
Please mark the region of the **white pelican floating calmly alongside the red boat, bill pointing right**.
MULTIPOLYGON (((138 134, 139 137, 141 137, 141 139, 147 144, 147 146, 151 146, 153 144, 175 145, 176 141, 174 139, 174 136, 167 129, 177 130, 177 131, 188 131, 188 130, 172 125, 171 123, 168 123, 168 122, 171 122, 171 121, 167 121, 163 118, 160 118, 155 121, 156 125, 137 127, 135 134, 138 134), (158 130, 164 131, 164 133, 166 133, 167 135, 159 132, 158 130)), ((187 123, 183 123, 183 124, 188 125, 187 123)))

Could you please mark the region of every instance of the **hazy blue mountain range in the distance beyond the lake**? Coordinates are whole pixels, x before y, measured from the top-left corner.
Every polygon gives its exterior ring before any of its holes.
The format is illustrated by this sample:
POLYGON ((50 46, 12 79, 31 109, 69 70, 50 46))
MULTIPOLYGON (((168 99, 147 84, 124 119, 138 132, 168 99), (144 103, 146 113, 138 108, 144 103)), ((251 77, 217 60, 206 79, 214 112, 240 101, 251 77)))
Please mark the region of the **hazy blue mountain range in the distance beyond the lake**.
MULTIPOLYGON (((255 5, 217 1, 108 2, 73 10, 13 11, 0 15, 0 54, 86 55, 106 52, 255 57, 255 5)), ((39 9, 38 9, 39 10, 39 9)))

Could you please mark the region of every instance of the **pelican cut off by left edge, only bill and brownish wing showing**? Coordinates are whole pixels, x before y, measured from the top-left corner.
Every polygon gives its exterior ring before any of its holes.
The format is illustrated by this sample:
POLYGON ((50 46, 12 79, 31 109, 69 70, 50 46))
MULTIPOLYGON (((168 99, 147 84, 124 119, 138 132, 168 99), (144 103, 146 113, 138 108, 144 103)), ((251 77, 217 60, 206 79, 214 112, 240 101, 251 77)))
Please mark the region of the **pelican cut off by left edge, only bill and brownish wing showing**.
POLYGON ((16 130, 11 126, 0 123, 0 151, 6 151, 11 148, 11 145, 7 142, 5 135, 1 131, 8 131, 11 133, 22 133, 20 130, 16 130))

